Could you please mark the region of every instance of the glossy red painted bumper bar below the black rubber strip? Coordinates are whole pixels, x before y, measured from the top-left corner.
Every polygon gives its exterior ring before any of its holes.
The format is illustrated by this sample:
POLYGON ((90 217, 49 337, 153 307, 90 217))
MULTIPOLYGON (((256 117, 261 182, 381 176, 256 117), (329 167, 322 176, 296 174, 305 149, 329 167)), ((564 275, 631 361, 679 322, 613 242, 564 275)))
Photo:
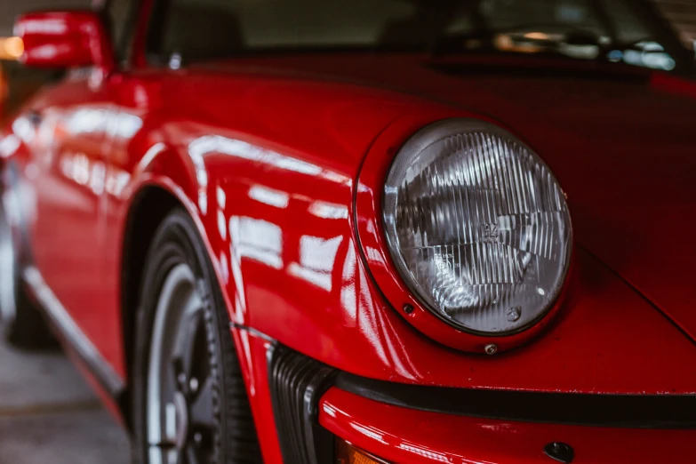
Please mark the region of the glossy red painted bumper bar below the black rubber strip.
POLYGON ((601 428, 415 411, 329 390, 319 421, 334 434, 390 462, 399 464, 508 464, 555 462, 544 446, 570 444, 573 462, 652 464, 684 460, 684 444, 694 430, 601 428))

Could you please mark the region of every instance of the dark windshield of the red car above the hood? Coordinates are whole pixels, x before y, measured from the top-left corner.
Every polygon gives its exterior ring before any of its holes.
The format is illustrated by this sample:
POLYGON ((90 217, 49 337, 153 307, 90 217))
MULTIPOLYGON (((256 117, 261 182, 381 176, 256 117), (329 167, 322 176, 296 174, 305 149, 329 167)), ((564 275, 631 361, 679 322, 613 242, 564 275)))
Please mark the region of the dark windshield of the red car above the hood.
POLYGON ((163 0, 151 60, 243 53, 543 53, 644 68, 692 54, 643 0, 163 0))

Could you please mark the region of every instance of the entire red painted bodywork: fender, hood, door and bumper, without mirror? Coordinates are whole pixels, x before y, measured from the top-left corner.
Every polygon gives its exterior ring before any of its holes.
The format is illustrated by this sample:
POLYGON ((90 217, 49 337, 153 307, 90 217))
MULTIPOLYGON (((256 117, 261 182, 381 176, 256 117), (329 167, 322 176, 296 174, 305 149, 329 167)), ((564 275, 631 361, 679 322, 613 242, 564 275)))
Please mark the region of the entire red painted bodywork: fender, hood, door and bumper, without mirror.
MULTIPOLYGON (((143 35, 140 25, 136 47, 143 35)), ((122 265, 133 205, 156 187, 187 209, 241 327, 232 332, 267 462, 281 462, 267 338, 394 382, 696 394, 696 248, 673 238, 696 226, 692 84, 644 70, 607 76, 588 64, 569 71, 585 79, 508 76, 515 63, 347 54, 174 71, 148 68, 136 50, 130 70, 42 92, 6 130, 17 146, 0 154, 20 166, 36 267, 125 384, 122 313, 134 308, 122 301, 122 265), (494 66, 468 75, 486 63, 494 66), (31 113, 42 116, 37 127, 31 113), (556 173, 572 212, 573 268, 556 314, 496 356, 445 347, 407 322, 400 308, 412 295, 380 247, 380 173, 413 132, 446 117, 483 117, 516 133, 556 173), (370 271, 394 284, 378 288, 370 271)), ((693 438, 414 412, 336 389, 320 419, 413 463, 536 462, 540 446, 565 437, 594 447, 595 462, 652 462, 668 456, 660 449, 683 456, 675 444, 693 438), (645 451, 634 456, 636 440, 645 451)))

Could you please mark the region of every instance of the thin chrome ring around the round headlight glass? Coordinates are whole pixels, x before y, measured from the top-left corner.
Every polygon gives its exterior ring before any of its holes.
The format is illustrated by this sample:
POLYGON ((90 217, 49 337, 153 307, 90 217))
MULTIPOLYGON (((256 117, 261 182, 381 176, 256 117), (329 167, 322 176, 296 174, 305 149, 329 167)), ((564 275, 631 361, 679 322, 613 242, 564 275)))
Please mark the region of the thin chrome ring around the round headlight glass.
MULTIPOLYGON (((399 244, 398 233, 396 231, 396 210, 397 210, 397 193, 398 188, 405 178, 406 172, 409 166, 412 165, 414 159, 423 154, 428 147, 434 145, 438 141, 450 138, 452 136, 457 136, 460 134, 468 134, 474 132, 483 132, 485 134, 490 134, 494 137, 499 137, 502 140, 509 140, 518 145, 526 154, 531 156, 533 162, 541 166, 542 169, 546 170, 545 175, 550 176, 550 182, 552 182, 559 191, 560 186, 548 165, 538 156, 531 148, 529 148, 523 141, 518 140, 513 134, 505 131, 495 124, 486 123, 478 119, 446 119, 433 124, 428 124, 426 127, 422 128, 420 131, 414 133, 410 137, 402 148, 400 148, 394 157, 392 164, 390 165, 387 173, 386 180, 384 181, 384 191, 382 196, 382 214, 381 220, 383 221, 384 236, 386 239, 386 244, 388 248, 388 253, 391 260, 396 267, 397 273, 401 276, 404 284, 416 297, 424 308, 436 316, 439 320, 444 321, 461 332, 468 332, 470 334, 480 336, 480 337, 504 337, 509 335, 514 335, 519 332, 524 332, 532 325, 537 324, 540 319, 548 315, 548 312, 554 308, 556 305, 556 300, 564 288, 564 283, 567 279, 570 262, 571 262, 571 251, 572 251, 572 223, 570 218, 570 212, 568 212, 567 204, 565 204, 565 198, 562 199, 564 205, 564 220, 567 222, 567 237, 564 249, 564 256, 560 257, 560 266, 558 271, 560 272, 560 278, 556 277, 557 284, 554 286, 552 293, 547 295, 546 303, 542 308, 538 308, 537 311, 532 314, 525 314, 524 320, 520 324, 511 324, 512 327, 507 330, 500 331, 484 331, 477 330, 475 327, 470 327, 464 324, 459 324, 457 321, 452 320, 452 318, 445 316, 444 312, 436 307, 434 301, 429 298, 427 292, 424 292, 420 284, 414 280, 412 270, 408 267, 404 259, 404 254, 402 252, 401 245, 399 244)), ((526 311, 525 311, 526 313, 526 311)), ((500 317, 499 317, 500 319, 500 317)))

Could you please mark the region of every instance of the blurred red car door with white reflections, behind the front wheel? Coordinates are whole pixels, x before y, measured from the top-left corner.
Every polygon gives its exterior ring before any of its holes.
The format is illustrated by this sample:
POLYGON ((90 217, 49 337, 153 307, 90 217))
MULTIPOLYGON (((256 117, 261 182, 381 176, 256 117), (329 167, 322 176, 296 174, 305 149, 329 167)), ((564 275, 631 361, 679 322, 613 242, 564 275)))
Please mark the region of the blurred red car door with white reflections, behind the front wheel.
POLYGON ((111 331, 100 319, 104 153, 113 113, 108 88, 94 88, 89 76, 68 78, 45 91, 31 111, 40 116, 37 133, 45 139, 30 160, 34 264, 87 338, 102 340, 111 331))

